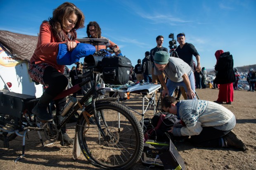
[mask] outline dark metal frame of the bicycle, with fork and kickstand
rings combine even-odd
[[[95,122],[97,124],[97,127],[98,127],[98,129],[100,131],[100,134],[102,135],[103,139],[106,139],[105,132],[102,130],[102,128],[100,126],[99,118],[102,119],[103,124],[105,125],[105,127],[107,127],[107,123],[104,120],[104,115],[103,115],[102,112],[100,112],[100,115],[97,115],[96,109],[95,109],[95,103],[103,102],[103,101],[115,102],[117,99],[116,98],[105,98],[105,99],[99,99],[96,102],[96,99],[97,99],[98,95],[99,94],[103,94],[103,93],[100,92],[101,90],[96,90],[96,76],[95,76],[95,74],[96,73],[94,73],[94,68],[91,67],[90,71],[88,71],[88,72],[83,74],[82,78],[85,78],[85,80],[83,82],[81,82],[81,83],[79,83],[79,84],[69,88],[68,90],[64,90],[57,97],[55,97],[55,99],[64,98],[64,97],[68,96],[69,94],[77,92],[78,90],[80,90],[82,88],[83,85],[85,85],[87,83],[90,83],[90,85],[91,85],[91,88],[90,88],[90,90],[88,90],[87,94],[85,94],[82,97],[82,99],[78,101],[79,104],[76,104],[75,106],[71,107],[69,112],[66,114],[64,120],[62,120],[62,122],[60,122],[58,125],[55,126],[57,128],[56,130],[60,131],[62,129],[62,127],[64,127],[64,125],[66,125],[68,120],[76,113],[76,111],[78,111],[78,109],[81,109],[81,106],[84,105],[85,102],[88,99],[90,99],[90,97],[92,97],[91,105],[92,105],[92,109],[93,109],[93,115],[94,115],[94,118],[96,120]],[[38,101],[38,99],[32,99],[30,101],[27,101],[26,104],[34,103],[34,102],[37,102],[37,101]],[[82,111],[84,111],[84,108],[85,108],[85,106],[83,106]],[[48,106],[48,111],[49,111],[49,113],[52,113],[50,105]],[[23,135],[19,134],[20,130],[9,131],[9,130],[5,130],[3,128],[0,128],[0,130],[3,131],[3,132],[0,132],[0,135],[11,135],[11,134],[15,133],[19,137],[23,137],[22,154],[21,154],[21,156],[19,156],[19,157],[17,157],[15,159],[15,162],[17,162],[20,158],[25,156],[25,137],[26,137],[26,134],[27,134],[27,132],[29,130],[37,131],[38,135],[39,135],[39,138],[40,138],[40,142],[42,143],[43,146],[45,146],[44,143],[43,143],[42,137],[41,137],[41,135],[39,133],[39,131],[44,132],[45,129],[40,128],[39,127],[39,123],[36,123],[36,122],[34,122],[34,123],[36,123],[35,126],[34,126],[33,122],[31,122],[31,117],[29,115],[27,115],[26,113],[27,113],[27,109],[25,109],[24,113],[22,113],[24,118],[25,118],[25,120],[22,121],[22,117],[21,117],[21,121],[19,121],[19,127],[21,127],[21,131],[25,130]],[[28,113],[30,113],[30,111]],[[84,116],[84,115],[81,114],[80,117],[81,116]],[[15,123],[9,123],[9,124],[16,125]],[[47,127],[48,127],[48,130],[49,130],[48,133],[54,134],[54,132],[53,132],[53,125],[54,125],[54,123],[53,122],[47,122],[45,125],[47,125]],[[9,147],[8,140],[4,142],[4,145],[5,145],[5,147]]]

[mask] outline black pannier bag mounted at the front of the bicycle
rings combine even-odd
[[[124,85],[130,76],[131,61],[123,56],[109,56],[102,59],[102,79],[106,84]]]

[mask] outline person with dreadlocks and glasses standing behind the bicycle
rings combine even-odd
[[[89,24],[87,25],[86,33],[88,37],[86,38],[105,38],[101,36],[101,28],[99,24],[96,21],[90,21]],[[118,45],[113,43],[111,40],[109,40],[110,45],[108,47],[111,47],[114,52],[117,52],[119,50]],[[102,50],[106,49],[105,45],[96,45],[95,46],[96,50]]]

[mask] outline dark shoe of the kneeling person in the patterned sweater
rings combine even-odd
[[[236,147],[242,151],[246,150],[246,146],[242,139],[236,135],[234,132],[230,131],[227,135],[223,136],[225,146],[227,147]]]

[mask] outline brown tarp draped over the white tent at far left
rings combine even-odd
[[[30,60],[32,57],[38,37],[0,30],[0,43],[15,57]]]

